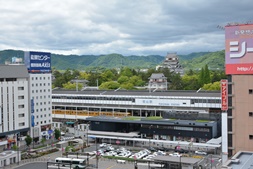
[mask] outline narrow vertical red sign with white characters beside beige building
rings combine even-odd
[[[228,81],[226,79],[221,80],[221,110],[228,110]]]

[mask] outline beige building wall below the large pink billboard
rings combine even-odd
[[[253,151],[253,75],[228,78],[228,153]]]

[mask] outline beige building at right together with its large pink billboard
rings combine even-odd
[[[225,27],[228,155],[253,151],[253,25]],[[225,136],[224,136],[225,137]]]

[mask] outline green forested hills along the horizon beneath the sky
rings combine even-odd
[[[121,54],[108,55],[59,55],[52,54],[52,67],[57,70],[77,69],[87,70],[95,67],[101,68],[155,68],[161,64],[165,56],[123,56]],[[12,57],[24,58],[24,51],[3,50],[0,51],[0,64],[11,61]],[[199,69],[207,64],[211,68],[224,68],[224,51],[199,52],[189,55],[179,55],[180,63],[185,69]]]

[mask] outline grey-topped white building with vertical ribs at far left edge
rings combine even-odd
[[[0,65],[0,152],[29,131],[28,79],[24,65]]]

